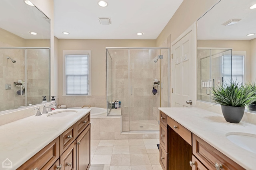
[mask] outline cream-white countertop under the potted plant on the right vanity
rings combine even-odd
[[[197,107],[159,107],[158,109],[246,170],[256,169],[256,154],[238,147],[226,138],[227,133],[233,132],[256,134],[256,125],[243,121],[228,123],[223,115]]]

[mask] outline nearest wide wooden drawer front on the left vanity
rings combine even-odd
[[[46,170],[49,169],[60,156],[60,138],[57,137],[48,144],[44,149],[40,150],[27,162],[18,168],[18,170]]]

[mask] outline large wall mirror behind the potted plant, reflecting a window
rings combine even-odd
[[[198,100],[211,102],[209,89],[224,81],[256,80],[254,4],[256,0],[220,0],[197,21]]]

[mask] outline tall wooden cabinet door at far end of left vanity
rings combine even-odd
[[[88,170],[91,161],[91,124],[76,139],[77,170]]]

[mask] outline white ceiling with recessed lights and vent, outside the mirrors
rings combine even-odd
[[[54,36],[59,39],[156,39],[183,0],[54,0]],[[99,17],[112,24],[101,25]],[[67,31],[70,34],[64,35]],[[144,34],[138,36],[138,32]]]

